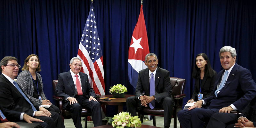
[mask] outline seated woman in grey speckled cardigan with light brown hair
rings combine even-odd
[[[37,55],[31,54],[24,60],[22,72],[18,75],[17,83],[21,86],[28,98],[34,103],[51,105],[45,108],[49,111],[60,113],[60,109],[53,105],[44,95],[40,60]]]

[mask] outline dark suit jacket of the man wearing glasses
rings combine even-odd
[[[0,104],[9,110],[26,112],[29,116],[33,116],[34,113],[31,105],[3,74],[0,75]],[[34,106],[38,110],[40,104],[34,103]]]

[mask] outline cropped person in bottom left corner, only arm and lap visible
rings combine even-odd
[[[38,123],[38,124],[43,124],[42,127],[46,127],[47,123],[44,123],[44,121],[40,120],[40,119],[36,119],[33,117],[28,116],[26,113],[24,112],[18,112],[18,111],[13,111],[13,110],[8,110],[3,108],[0,105],[0,128],[4,128],[4,127],[15,127],[15,128],[19,128],[20,126],[15,122],[20,122],[22,120],[28,122],[26,125],[29,126],[30,123]],[[12,121],[12,122],[10,122]]]

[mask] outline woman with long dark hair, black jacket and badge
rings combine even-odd
[[[212,69],[210,60],[205,53],[196,55],[192,77],[195,79],[195,89],[189,102],[204,99],[212,95],[216,72]]]

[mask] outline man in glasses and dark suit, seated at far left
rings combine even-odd
[[[6,56],[0,62],[0,104],[6,109],[25,112],[29,116],[41,119],[48,127],[65,127],[59,113],[49,112],[40,104],[33,104],[14,81],[20,68],[17,61],[15,57]]]

